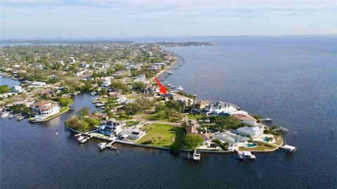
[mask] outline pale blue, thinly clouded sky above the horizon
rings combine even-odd
[[[337,34],[337,0],[0,0],[1,39]]]

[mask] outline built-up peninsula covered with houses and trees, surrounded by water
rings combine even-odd
[[[1,116],[11,112],[31,122],[46,121],[70,110],[72,96],[91,93],[97,110],[82,107],[65,121],[84,136],[175,153],[270,152],[283,145],[282,128],[266,126],[268,119],[237,105],[198,100],[166,81],[161,82],[168,93],[161,93],[154,78],[184,63],[161,45],[213,43],[1,46],[1,74],[21,83],[1,86]]]

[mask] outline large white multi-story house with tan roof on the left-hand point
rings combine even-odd
[[[41,100],[31,105],[31,109],[35,119],[46,119],[60,112],[60,107],[57,103],[49,100]]]

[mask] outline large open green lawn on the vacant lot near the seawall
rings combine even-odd
[[[147,130],[147,133],[137,141],[138,144],[169,147],[173,143],[181,144],[185,135],[183,129],[171,124],[150,124],[142,129]]]

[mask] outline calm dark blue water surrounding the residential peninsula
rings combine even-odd
[[[257,153],[256,162],[202,154],[194,163],[165,150],[79,145],[63,124],[74,112],[36,124],[1,119],[1,188],[337,188],[336,38],[200,40],[218,46],[168,48],[185,64],[166,80],[272,117],[290,130],[284,141],[297,152]],[[77,109],[95,108],[89,95],[74,100]]]

